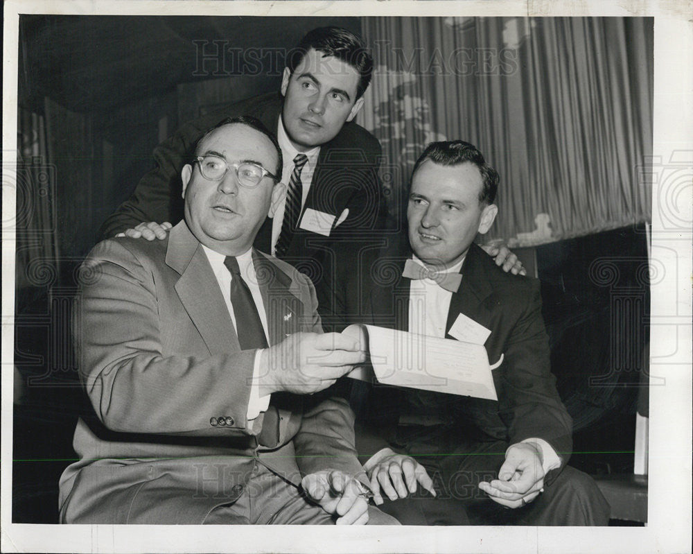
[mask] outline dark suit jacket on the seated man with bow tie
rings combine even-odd
[[[408,244],[399,244],[385,252],[363,250],[344,261],[352,268],[344,272],[347,279],[333,293],[318,291],[324,326],[340,330],[365,322],[407,331],[411,281],[401,274],[410,256]],[[352,398],[360,422],[359,455],[394,446],[396,427],[406,419],[426,426],[454,423],[460,436],[472,441],[513,444],[542,438],[565,462],[572,447],[572,422],[550,372],[538,281],[503,272],[476,245],[466,255],[462,275],[459,291],[450,300],[446,333],[460,313],[491,330],[484,344],[489,362],[505,356],[493,370],[498,401],[375,386],[368,397],[361,392]]]

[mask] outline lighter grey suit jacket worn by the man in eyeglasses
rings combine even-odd
[[[253,252],[270,345],[322,332],[310,280]],[[242,351],[202,246],[184,222],[165,241],[112,239],[82,266],[74,338],[93,407],[80,461],[60,479],[61,521],[201,523],[234,501],[259,460],[300,482],[327,467],[362,471],[346,401],[275,393],[279,445],[247,422],[254,350]],[[236,313],[243,324],[243,313]]]

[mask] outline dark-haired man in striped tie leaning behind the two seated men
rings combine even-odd
[[[363,106],[373,58],[350,31],[321,27],[310,31],[286,62],[281,95],[250,98],[186,123],[157,146],[156,168],[105,221],[101,239],[119,233],[163,239],[168,222],[182,217],[179,174],[191,145],[203,130],[239,115],[254,116],[277,133],[287,184],[286,198],[263,223],[255,248],[296,264],[319,286],[323,260],[333,263],[352,245],[380,238],[386,213],[378,179],[382,150],[378,139],[353,121]],[[507,248],[488,252],[498,254],[496,263],[506,271],[523,272]]]

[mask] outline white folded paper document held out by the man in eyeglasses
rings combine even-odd
[[[342,333],[358,337],[370,353],[371,365],[357,367],[352,379],[498,400],[491,370],[502,356],[491,367],[483,345],[375,325],[350,325]]]

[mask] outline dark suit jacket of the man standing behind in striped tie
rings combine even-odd
[[[277,132],[283,98],[272,93],[256,96],[186,123],[173,137],[155,148],[156,167],[137,184],[129,200],[109,216],[99,231],[108,239],[143,221],[170,221],[183,217],[180,171],[193,157],[193,147],[211,126],[227,117],[254,116],[272,133]],[[283,259],[290,263],[312,263],[316,255],[339,248],[345,239],[362,241],[383,225],[384,200],[378,180],[381,148],[378,140],[356,123],[345,123],[337,136],[322,145],[305,208],[337,216],[349,209],[349,216],[330,237],[297,230]],[[290,175],[283,175],[288,183]],[[270,252],[272,219],[258,232],[255,247]],[[335,242],[336,241],[336,242]],[[302,267],[301,269],[306,269]],[[319,268],[307,270],[317,275]]]

